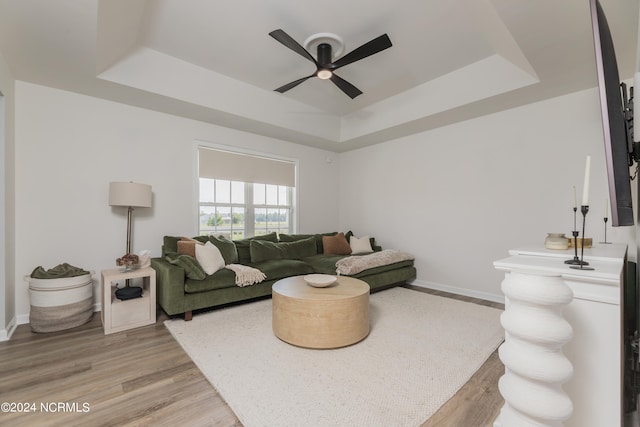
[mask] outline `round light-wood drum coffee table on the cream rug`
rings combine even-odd
[[[369,334],[369,285],[338,276],[326,288],[314,288],[304,276],[273,284],[273,333],[289,344],[338,348]]]

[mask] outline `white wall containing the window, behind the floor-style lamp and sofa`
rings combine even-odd
[[[338,224],[339,159],[328,151],[20,81],[15,126],[19,323],[29,311],[23,278],[37,266],[93,270],[98,295],[100,270],[125,251],[126,213],[108,206],[110,181],[153,187],[153,208],[134,212],[134,252],[159,256],[163,235],[196,233],[194,140],[298,159],[298,231]]]

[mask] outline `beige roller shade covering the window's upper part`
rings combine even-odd
[[[198,176],[250,183],[296,186],[295,163],[212,148],[198,148]]]

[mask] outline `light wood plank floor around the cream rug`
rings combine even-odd
[[[0,412],[0,425],[241,426],[171,337],[165,319],[159,312],[155,325],[107,336],[99,313],[83,326],[49,334],[19,326],[11,340],[0,343],[0,403],[13,402],[12,409],[23,411],[27,405],[31,412]],[[503,404],[497,389],[503,373],[496,351],[422,427],[492,425]]]

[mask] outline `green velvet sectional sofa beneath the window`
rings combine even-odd
[[[151,267],[156,270],[157,301],[168,315],[184,315],[185,320],[191,320],[196,310],[271,296],[271,286],[285,277],[311,273],[335,275],[338,260],[360,256],[326,254],[323,236],[338,234],[342,233],[280,236],[271,233],[233,242],[220,237],[193,238],[202,243],[211,241],[220,250],[225,264],[246,265],[264,273],[266,277],[262,282],[250,286],[237,285],[236,273],[228,268],[203,274],[193,254],[179,252],[178,242],[185,243],[185,238],[165,236],[162,257],[151,259]],[[345,237],[351,236],[349,232]],[[328,237],[324,239],[329,242]],[[374,253],[380,252],[382,248],[375,246],[374,239],[370,241]],[[373,292],[415,279],[416,269],[413,259],[405,259],[368,268],[351,277],[368,283]]]

